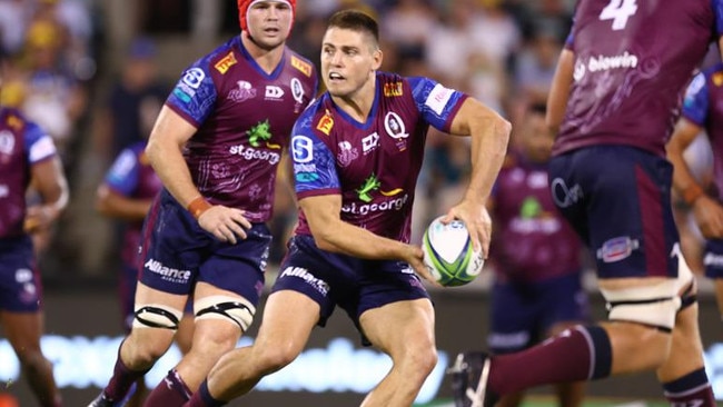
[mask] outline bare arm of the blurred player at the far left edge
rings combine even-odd
[[[34,189],[40,193],[41,205],[28,207],[24,219],[26,231],[41,230],[60,217],[68,206],[69,192],[62,163],[58,156],[31,166]]]

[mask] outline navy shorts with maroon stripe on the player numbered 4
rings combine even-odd
[[[553,158],[553,199],[590,246],[601,278],[677,275],[672,171],[664,158],[622,146]]]

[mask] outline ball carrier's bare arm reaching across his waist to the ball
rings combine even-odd
[[[299,206],[319,249],[363,259],[402,260],[428,281],[434,281],[424,266],[422,248],[385,238],[341,220],[341,196],[305,197]]]

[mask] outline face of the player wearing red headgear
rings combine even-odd
[[[291,8],[283,1],[259,1],[248,10],[248,30],[263,48],[276,48],[291,30]]]

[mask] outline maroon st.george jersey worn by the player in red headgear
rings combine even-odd
[[[267,75],[235,37],[191,64],[166,105],[198,128],[185,158],[214,205],[271,216],[276,168],[294,121],[317,91],[314,64],[286,48]]]

